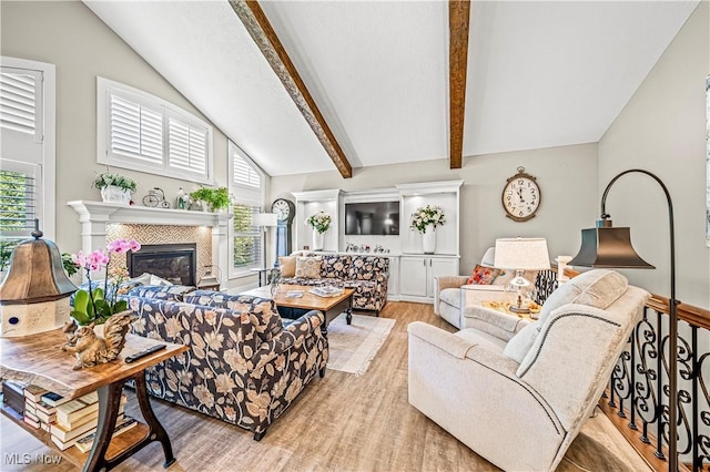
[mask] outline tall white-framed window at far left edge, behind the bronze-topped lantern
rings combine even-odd
[[[0,269],[38,220],[54,238],[54,65],[0,58]]]

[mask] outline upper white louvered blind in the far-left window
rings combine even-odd
[[[41,120],[38,101],[41,100],[41,72],[0,71],[0,126],[41,138]]]

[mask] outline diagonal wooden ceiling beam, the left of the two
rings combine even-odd
[[[345,178],[352,177],[353,167],[351,163],[335,140],[335,135],[325,122],[323,114],[315,104],[313,96],[311,96],[308,89],[306,89],[296,66],[291,61],[291,58],[288,58],[286,50],[278,40],[276,32],[260,7],[258,1],[230,0],[230,4],[281,80],[291,99],[293,99],[301,114],[303,114],[303,117],[325,148],[325,152],[331,156],[331,160],[333,160],[341,175]]]

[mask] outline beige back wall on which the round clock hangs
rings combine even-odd
[[[526,223],[506,218],[500,203],[506,178],[515,175],[518,166],[537,177],[542,195],[537,216]],[[436,160],[357,168],[348,179],[335,171],[272,177],[271,199],[293,199],[291,192],[383,188],[447,179],[465,181],[460,208],[462,274],[470,273],[498,237],[544,236],[551,258],[561,254],[574,256],[579,249],[580,229],[594,226],[599,213],[596,144],[466,157],[460,170],[450,170],[447,160]],[[406,220],[409,215],[402,217]],[[302,219],[297,215],[294,225]]]

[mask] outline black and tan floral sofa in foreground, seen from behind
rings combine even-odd
[[[306,384],[325,374],[320,311],[282,321],[272,300],[140,286],[128,295],[133,334],[190,346],[146,370],[154,397],[265,434]]]

